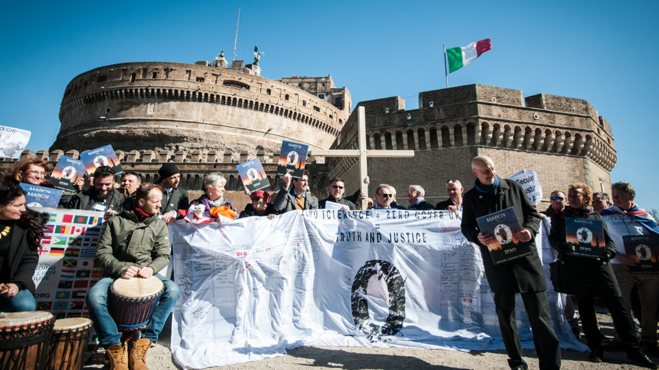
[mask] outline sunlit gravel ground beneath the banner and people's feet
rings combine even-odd
[[[610,315],[598,313],[598,321],[602,333],[611,337],[613,323]],[[147,354],[146,363],[152,370],[180,369],[173,363],[169,350],[169,335],[171,328],[168,322],[161,334],[158,344]],[[585,343],[585,339],[581,339]],[[218,349],[221,350],[221,349]],[[103,364],[103,350],[88,352],[88,359],[83,369],[107,368]],[[538,358],[535,350],[524,350],[525,360],[529,369],[538,369]],[[588,361],[588,352],[563,350],[562,369],[643,369],[627,362],[624,352],[605,352],[603,363]],[[659,358],[652,358],[659,361]],[[287,356],[271,359],[262,359],[247,363],[210,367],[208,369],[223,370],[262,370],[285,369],[297,370],[314,367],[316,369],[433,369],[433,370],[462,370],[462,369],[509,369],[505,351],[446,351],[446,350],[418,350],[411,348],[367,348],[367,347],[320,347],[304,346],[289,350]]]

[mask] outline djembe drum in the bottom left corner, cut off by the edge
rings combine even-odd
[[[47,311],[0,314],[0,369],[45,369],[53,323]]]

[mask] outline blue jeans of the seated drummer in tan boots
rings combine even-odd
[[[163,330],[165,321],[167,321],[167,317],[169,317],[169,313],[171,313],[181,292],[179,286],[172,280],[158,274],[154,274],[154,277],[162,280],[165,290],[160,296],[153,317],[151,317],[146,329],[142,332],[142,338],[148,338],[152,343],[158,342],[158,334]],[[101,346],[106,348],[112,344],[121,344],[121,333],[117,329],[117,324],[112,318],[107,304],[107,294],[114,281],[115,279],[109,277],[101,278],[89,290],[86,299],[87,309],[92,323],[94,323],[94,330],[98,334],[98,341]]]

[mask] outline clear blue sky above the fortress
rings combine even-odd
[[[449,76],[587,99],[612,124],[613,181],[659,209],[659,172],[647,170],[658,136],[654,115],[659,35],[656,1],[7,1],[0,14],[0,124],[32,131],[47,149],[74,76],[135,61],[230,58],[241,5],[237,59],[254,44],[262,76],[331,74],[353,101],[393,95],[415,109],[417,93],[443,88],[442,44],[492,39],[488,51]],[[650,157],[648,157],[650,156]]]

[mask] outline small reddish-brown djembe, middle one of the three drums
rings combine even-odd
[[[92,321],[84,317],[55,320],[48,350],[47,370],[80,370],[82,355],[92,334]]]

